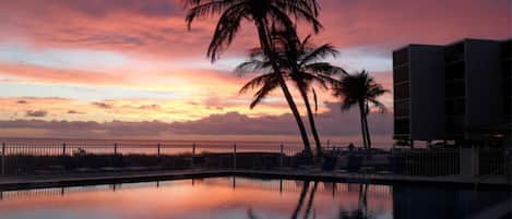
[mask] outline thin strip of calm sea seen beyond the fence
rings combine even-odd
[[[278,153],[281,145],[288,153],[297,153],[303,149],[298,142],[290,141],[156,141],[156,139],[64,139],[64,138],[5,138],[0,139],[10,150],[8,154],[24,153],[37,154],[38,148],[47,148],[44,154],[60,154],[66,145],[68,153],[85,149],[86,153],[103,154],[114,153],[117,147],[118,154],[156,154],[158,146],[162,154],[192,153],[233,153],[237,151],[273,151]],[[331,145],[335,146],[335,145]],[[338,144],[337,146],[342,146]],[[23,148],[23,149],[16,149]],[[49,148],[49,149],[48,149]]]

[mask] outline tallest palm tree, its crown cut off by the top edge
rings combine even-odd
[[[294,22],[289,17],[291,15],[310,24],[314,33],[321,28],[321,24],[317,21],[319,5],[315,0],[184,0],[184,4],[189,8],[186,17],[189,28],[195,19],[221,15],[207,50],[212,62],[231,44],[243,20],[252,22],[257,27],[260,47],[272,61],[274,73],[279,73],[279,68],[269,35],[271,25],[294,29]],[[311,157],[311,147],[300,113],[284,78],[279,76],[281,74],[276,75],[275,80],[299,127],[305,150]]]

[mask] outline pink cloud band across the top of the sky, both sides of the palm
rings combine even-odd
[[[510,36],[508,0],[323,0],[321,41],[390,49],[409,42],[446,44],[464,37]],[[2,34],[36,47],[116,50],[166,58],[204,58],[215,17],[192,32],[179,1],[10,1],[0,3]],[[245,25],[231,52],[257,45]]]

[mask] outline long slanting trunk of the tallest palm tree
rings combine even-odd
[[[275,59],[275,56],[274,56],[274,49],[273,49],[273,47],[271,47],[271,42],[270,42],[271,40],[270,40],[269,34],[267,34],[269,32],[266,29],[266,22],[264,22],[262,20],[255,20],[255,25],[258,27],[258,35],[260,37],[260,45],[261,45],[263,51],[265,52],[266,57],[270,58],[270,60],[272,62],[272,69],[274,70],[274,72],[279,73],[281,70],[276,64],[276,59]],[[294,97],[291,96],[291,94],[288,89],[288,86],[286,85],[286,82],[285,82],[285,80],[283,78],[282,75],[279,75],[279,86],[283,90],[283,94],[286,98],[286,101],[288,102],[288,107],[290,108],[291,113],[294,114],[294,118],[297,122],[297,125],[299,126],[300,136],[302,137],[302,143],[303,143],[306,156],[308,157],[309,161],[311,161],[312,153],[311,153],[311,146],[310,146],[310,143],[309,143],[308,134],[306,132],[306,126],[303,125],[303,122],[302,122],[302,119],[300,117],[299,110],[297,109],[297,105],[294,101]]]

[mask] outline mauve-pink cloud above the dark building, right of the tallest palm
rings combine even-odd
[[[449,44],[467,37],[511,36],[509,0],[320,1],[322,39],[341,47],[394,49],[406,44]],[[391,51],[389,51],[391,56]]]

